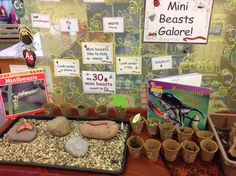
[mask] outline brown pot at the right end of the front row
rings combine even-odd
[[[212,139],[203,139],[200,143],[201,157],[204,161],[211,161],[218,150],[218,145]]]

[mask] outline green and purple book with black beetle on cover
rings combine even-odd
[[[186,76],[181,75],[178,81],[173,81],[178,76],[149,80],[148,117],[176,126],[188,126],[195,131],[204,130],[211,90],[196,86],[201,82],[201,79],[194,82],[196,79],[193,78],[199,78],[198,74]]]

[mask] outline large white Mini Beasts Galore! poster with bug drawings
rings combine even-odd
[[[146,0],[144,42],[207,43],[213,0]]]

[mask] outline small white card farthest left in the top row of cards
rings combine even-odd
[[[50,15],[48,14],[39,14],[39,13],[32,13],[31,14],[31,22],[32,27],[35,28],[50,28]]]

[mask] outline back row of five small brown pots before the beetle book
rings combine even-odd
[[[168,122],[160,123],[157,119],[154,118],[145,119],[144,117],[142,117],[142,120],[137,123],[133,123],[132,118],[130,119],[130,124],[135,134],[140,134],[142,132],[144,123],[146,124],[148,133],[152,136],[155,136],[159,132],[162,141],[166,139],[172,139],[175,130],[177,131],[179,142],[183,142],[185,140],[192,140],[192,136],[194,134],[192,128],[189,127],[176,128],[172,123]],[[198,138],[198,143],[200,143],[201,140],[205,138],[213,139],[214,133],[207,130],[198,131],[196,132],[196,136]]]

